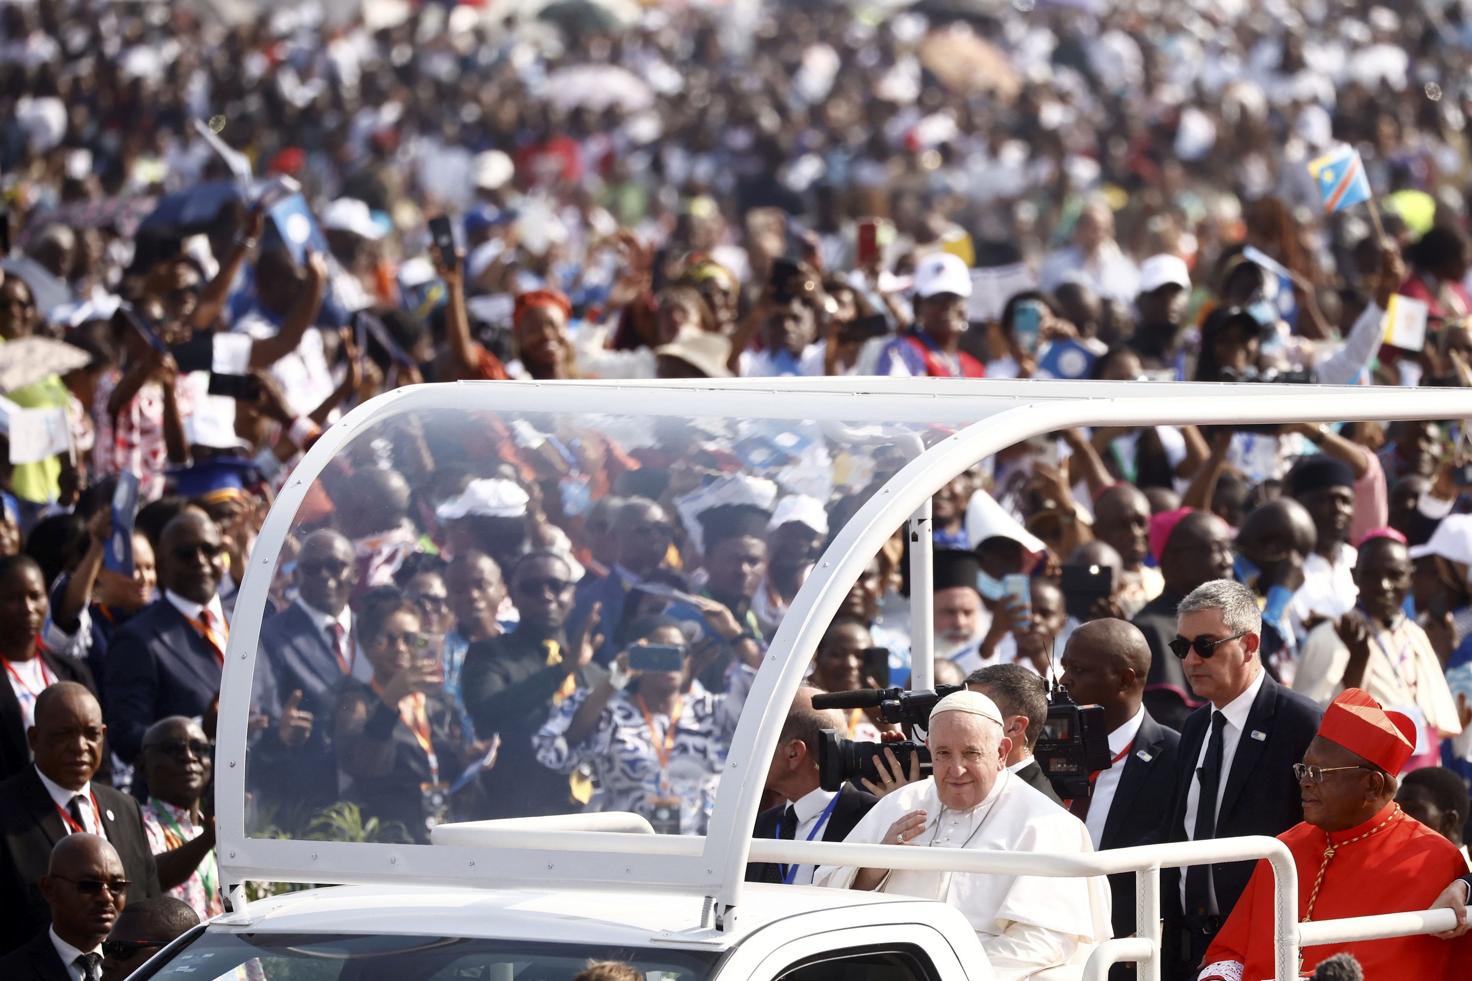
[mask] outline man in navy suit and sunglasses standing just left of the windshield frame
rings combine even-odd
[[[163,597],[113,634],[107,650],[109,734],[127,763],[158,719],[210,713],[225,663],[219,527],[202,510],[181,512],[159,535],[158,560]]]

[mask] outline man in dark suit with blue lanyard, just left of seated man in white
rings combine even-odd
[[[845,729],[841,712],[813,707],[817,688],[801,688],[788,712],[777,740],[777,752],[767,768],[767,790],[786,797],[786,803],[757,815],[754,838],[842,841],[879,797],[843,784],[838,794],[818,787],[818,746],[823,729]],[[748,882],[792,882],[811,885],[814,866],[796,868],[773,862],[749,862]]]

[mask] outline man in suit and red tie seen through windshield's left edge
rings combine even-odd
[[[261,628],[253,709],[272,719],[275,737],[253,747],[271,766],[252,768],[250,775],[268,797],[316,794],[315,803],[327,805],[337,799],[333,781],[321,778],[336,766],[328,732],[337,690],[344,678],[372,679],[368,657],[358,656],[347,607],[358,584],[352,543],[336,531],[312,532],[294,577],[296,602]]]

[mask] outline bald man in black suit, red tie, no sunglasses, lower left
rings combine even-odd
[[[97,699],[75,682],[54,684],[35,700],[35,765],[0,784],[0,952],[50,922],[41,878],[52,849],[69,834],[100,834],[112,844],[132,882],[130,899],[159,894],[138,802],[93,782],[105,734]]]

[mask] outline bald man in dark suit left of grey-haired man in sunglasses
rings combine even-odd
[[[1161,816],[1176,800],[1176,747],[1181,734],[1160,725],[1145,710],[1150,643],[1139,628],[1120,619],[1083,624],[1069,637],[1058,679],[1079,704],[1104,707],[1110,768],[1094,777],[1092,793],[1070,802],[1100,852],[1151,844],[1158,840]],[[1116,937],[1135,932],[1135,875],[1108,877]],[[1114,965],[1110,978],[1135,972]]]

